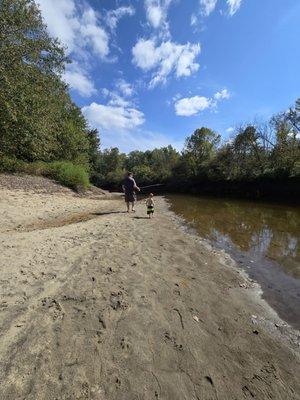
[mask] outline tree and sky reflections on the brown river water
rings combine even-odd
[[[300,210],[237,200],[170,196],[172,209],[208,239],[278,261],[300,278]]]

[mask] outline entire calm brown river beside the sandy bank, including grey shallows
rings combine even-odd
[[[170,208],[224,249],[279,316],[300,329],[300,207],[169,195]]]

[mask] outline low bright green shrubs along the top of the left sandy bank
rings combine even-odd
[[[0,157],[0,172],[26,173],[41,175],[61,183],[74,190],[85,190],[89,187],[89,175],[86,169],[70,161],[54,161],[46,163],[25,161],[6,156]]]

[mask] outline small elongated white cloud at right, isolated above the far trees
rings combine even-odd
[[[218,101],[228,99],[229,97],[230,94],[227,89],[217,92],[213,98],[204,96],[185,97],[175,101],[175,112],[182,117],[190,117],[206,109],[216,107]]]

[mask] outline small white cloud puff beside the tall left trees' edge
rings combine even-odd
[[[63,75],[63,80],[82,97],[90,97],[97,92],[87,72],[77,63],[70,65]]]

